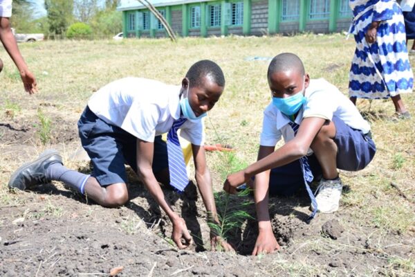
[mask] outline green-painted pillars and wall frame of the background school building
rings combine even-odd
[[[299,19],[297,21],[284,22],[282,21],[282,0],[217,0],[217,1],[201,1],[201,3],[184,3],[175,6],[159,6],[158,10],[165,10],[165,18],[169,22],[170,26],[176,33],[179,33],[183,37],[197,34],[201,37],[207,37],[209,35],[229,35],[235,33],[238,35],[252,35],[252,25],[255,25],[258,20],[258,15],[253,15],[252,10],[259,5],[264,3],[268,5],[268,12],[261,15],[266,17],[268,22],[266,24],[266,30],[262,33],[286,33],[283,30],[284,24],[291,24],[294,26],[293,32],[304,32],[313,31],[313,24],[317,26],[320,24],[320,28],[316,28],[315,31],[321,28],[325,29],[326,32],[337,32],[339,28],[347,28],[347,25],[351,21],[350,17],[340,17],[340,1],[341,0],[330,0],[330,15],[327,19],[309,19],[309,6],[311,0],[300,0],[299,1]],[[225,6],[229,3],[243,2],[243,24],[241,26],[229,26],[226,25]],[[201,22],[199,28],[190,28],[190,8],[192,6],[200,5],[201,7]],[[221,6],[221,26],[210,27],[208,24],[209,6],[220,5]],[[138,14],[138,12],[148,11],[147,9],[142,10],[127,10],[122,12],[122,31],[124,37],[160,37],[165,36],[167,33],[165,30],[158,30],[157,26],[154,26],[154,21],[150,20],[149,30],[139,30],[138,17],[136,17],[136,30],[127,30],[128,17],[131,12]],[[181,19],[174,18],[175,15],[181,14]],[[181,26],[178,24],[181,21]],[[286,25],[285,25],[286,26]],[[323,27],[321,27],[323,26]],[[325,33],[326,33],[325,32]],[[255,33],[255,32],[254,32]],[[319,31],[320,33],[320,31]],[[258,34],[255,33],[256,35]]]

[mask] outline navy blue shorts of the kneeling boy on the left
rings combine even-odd
[[[88,106],[77,123],[82,147],[93,163],[92,177],[101,186],[127,183],[125,164],[137,172],[137,138],[120,127],[98,118]],[[167,144],[156,136],[154,139],[153,172],[168,168]]]

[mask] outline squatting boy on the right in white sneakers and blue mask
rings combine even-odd
[[[279,249],[268,213],[269,193],[291,195],[305,186],[313,211],[308,220],[317,211],[333,213],[342,193],[337,168],[361,170],[376,152],[369,123],[358,109],[326,80],[311,80],[297,55],[274,57],[268,84],[273,102],[264,111],[258,161],[228,175],[223,185],[228,193],[245,182],[254,188],[259,234],[252,255]],[[286,143],[275,150],[282,136]],[[309,187],[313,179],[320,179],[316,197]]]

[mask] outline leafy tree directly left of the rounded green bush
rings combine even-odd
[[[64,34],[73,21],[73,0],[45,0],[45,8],[50,33]]]

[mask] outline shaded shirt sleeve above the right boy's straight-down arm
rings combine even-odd
[[[277,129],[277,116],[273,113],[270,106],[264,111],[264,120],[262,121],[262,132],[259,144],[262,146],[275,146],[281,139],[282,133]]]

